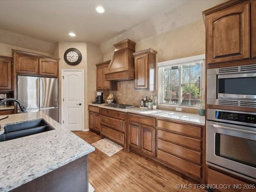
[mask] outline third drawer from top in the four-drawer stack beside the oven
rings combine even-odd
[[[201,164],[201,154],[200,152],[178,146],[173,143],[166,142],[164,140],[157,140],[157,148],[165,152],[171,153],[180,158],[186,159],[188,161],[194,162],[196,164]]]

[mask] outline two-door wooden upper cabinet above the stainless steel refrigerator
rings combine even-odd
[[[58,58],[13,50],[16,74],[58,77]]]

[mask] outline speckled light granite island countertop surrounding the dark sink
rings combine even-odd
[[[0,142],[0,192],[17,188],[95,150],[42,112],[9,115],[0,121],[0,132],[4,132],[5,124],[40,118],[54,130]]]

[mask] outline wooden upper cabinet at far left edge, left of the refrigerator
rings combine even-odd
[[[12,58],[0,56],[0,89],[12,89]]]

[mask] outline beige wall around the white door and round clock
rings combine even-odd
[[[77,48],[82,54],[82,61],[76,66],[70,66],[64,61],[64,52],[68,48]],[[58,55],[57,55],[58,54]],[[84,129],[88,130],[88,103],[95,100],[96,95],[96,66],[98,62],[103,61],[103,54],[93,44],[86,42],[59,42],[56,44],[54,56],[60,58],[59,76],[61,77],[62,69],[83,69],[84,70]],[[60,120],[61,120],[61,78],[59,81],[59,101],[60,101]]]

